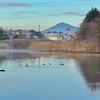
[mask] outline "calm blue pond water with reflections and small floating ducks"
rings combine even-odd
[[[0,100],[100,100],[100,56],[0,51]]]

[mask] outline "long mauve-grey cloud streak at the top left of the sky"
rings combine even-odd
[[[23,2],[4,2],[0,3],[0,6],[5,6],[5,7],[30,7],[33,4],[31,3],[23,3]]]

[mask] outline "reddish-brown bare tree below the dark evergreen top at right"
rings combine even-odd
[[[98,25],[95,22],[84,22],[76,34],[79,40],[95,42],[98,36]]]

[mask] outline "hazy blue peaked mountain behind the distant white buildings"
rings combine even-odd
[[[66,34],[66,32],[67,32],[66,28],[70,28],[70,34],[73,34],[74,32],[76,32],[79,29],[78,27],[75,27],[75,26],[69,25],[67,23],[61,22],[61,23],[56,24],[53,27],[50,27],[50,28],[44,30],[43,33],[47,33],[49,31],[50,32],[57,31],[57,32],[62,32],[64,34]]]

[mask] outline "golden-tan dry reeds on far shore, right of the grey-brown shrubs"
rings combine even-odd
[[[56,50],[67,52],[100,52],[98,43],[74,42],[74,41],[42,41],[32,42],[27,49],[31,50]]]

